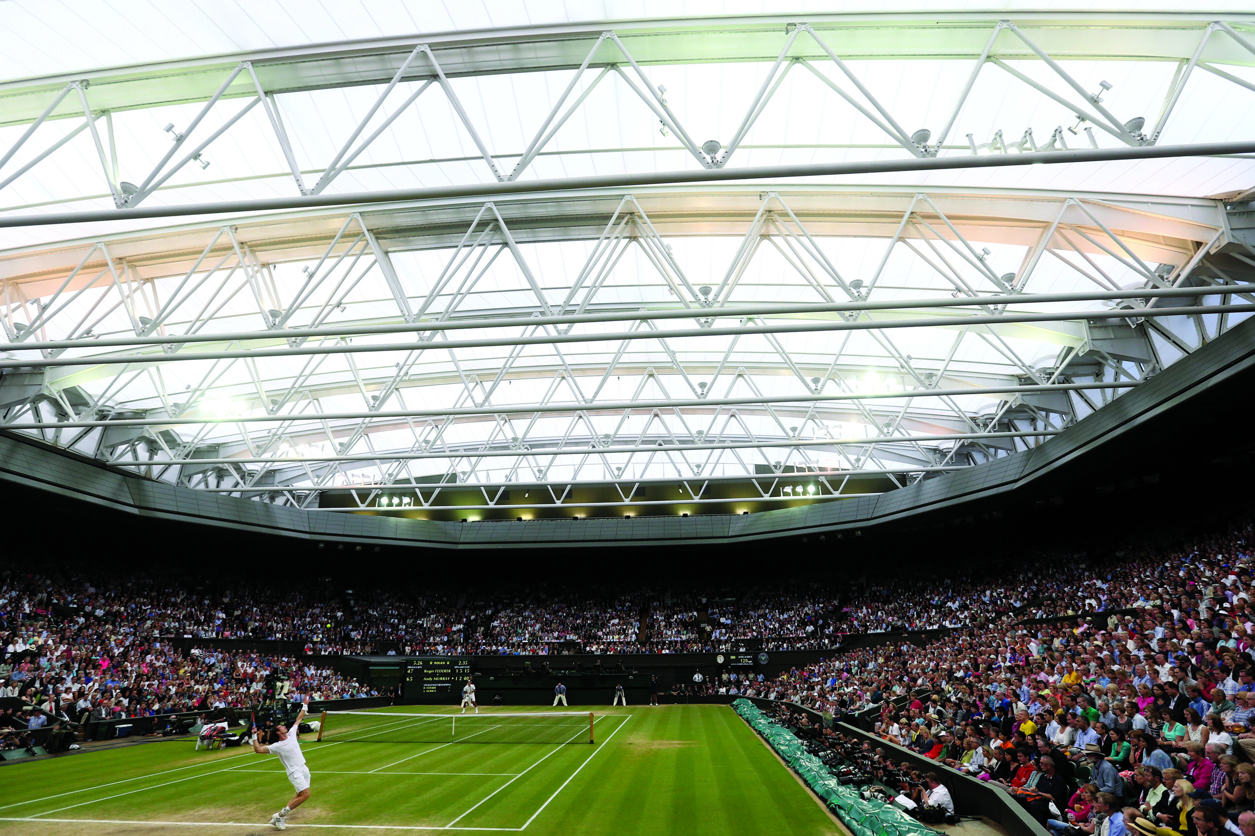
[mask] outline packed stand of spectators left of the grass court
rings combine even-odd
[[[163,597],[164,607],[157,603]],[[312,658],[201,648],[200,634],[178,635],[182,624],[173,627],[193,617],[235,624],[228,619],[294,615],[257,605],[230,595],[158,595],[134,584],[99,590],[33,573],[0,575],[0,750],[26,748],[29,732],[45,726],[243,708],[267,687],[314,699],[374,696]],[[217,635],[231,633],[226,627]],[[282,683],[267,684],[272,671],[282,671]],[[153,729],[159,733],[158,724]]]

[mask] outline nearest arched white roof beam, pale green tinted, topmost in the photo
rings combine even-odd
[[[1242,30],[1250,23],[1224,13],[882,13],[756,15],[733,18],[620,20],[565,26],[531,26],[484,31],[434,33],[310,46],[236,53],[139,66],[114,66],[56,76],[35,76],[0,84],[0,125],[24,124],[40,117],[65,84],[88,80],[93,110],[127,110],[205,102],[241,61],[252,64],[267,93],[294,93],[364,84],[385,84],[405,63],[415,44],[428,44],[447,76],[575,69],[612,30],[639,64],[771,61],[787,39],[786,26],[809,24],[845,59],[978,59],[1000,20],[1010,20],[1055,59],[1190,60],[1200,36],[1216,20]],[[1245,34],[1245,33],[1242,33]],[[798,39],[796,54],[823,60],[826,53]],[[1003,34],[991,56],[1037,59],[1020,39]],[[591,66],[621,61],[602,43]],[[1255,55],[1227,38],[1212,38],[1202,60],[1255,64]],[[414,78],[430,75],[418,63]],[[223,98],[256,95],[243,74]],[[77,97],[67,97],[49,118],[82,117]]]

